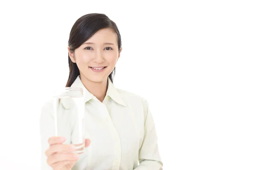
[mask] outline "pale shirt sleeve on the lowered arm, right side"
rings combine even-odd
[[[148,109],[148,102],[143,101],[144,119],[144,139],[139,150],[140,164],[134,170],[163,170],[158,146],[157,133],[151,112]]]

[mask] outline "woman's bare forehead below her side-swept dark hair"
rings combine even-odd
[[[105,43],[106,41],[115,43],[117,42],[116,33],[111,28],[103,28],[93,34],[86,42]]]

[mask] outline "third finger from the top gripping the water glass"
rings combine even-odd
[[[76,153],[55,153],[50,155],[47,159],[47,164],[52,166],[52,164],[59,161],[77,161],[78,155]]]

